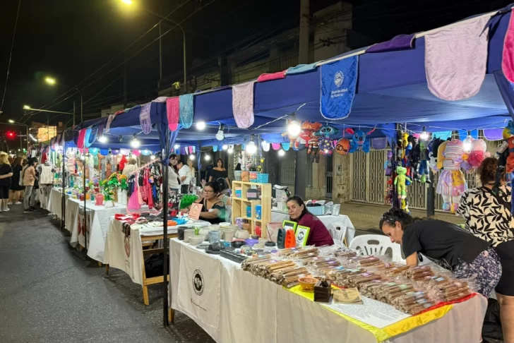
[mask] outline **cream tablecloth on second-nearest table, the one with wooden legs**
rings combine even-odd
[[[136,284],[143,284],[143,246],[141,246],[141,236],[156,236],[163,234],[162,227],[155,230],[144,232],[131,227],[130,236],[123,232],[123,222],[109,217],[107,236],[105,237],[104,247],[102,248],[102,263],[108,264],[123,270],[131,277]],[[208,222],[198,221],[203,226],[210,225]],[[168,227],[168,234],[177,234],[178,227]]]

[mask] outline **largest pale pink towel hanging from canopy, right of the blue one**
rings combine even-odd
[[[486,75],[489,16],[425,35],[425,72],[436,97],[456,101],[476,95]]]

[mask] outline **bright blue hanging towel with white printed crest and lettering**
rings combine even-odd
[[[345,119],[352,111],[359,56],[321,66],[320,111],[326,119]]]

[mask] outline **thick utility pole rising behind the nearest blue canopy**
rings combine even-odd
[[[300,35],[299,35],[299,52],[298,52],[298,64],[309,64],[309,25],[310,25],[310,0],[300,0]],[[301,198],[305,198],[305,187],[306,187],[306,164],[307,154],[305,151],[296,152],[296,165],[294,178],[294,193],[300,195]],[[318,175],[313,175],[318,177]]]

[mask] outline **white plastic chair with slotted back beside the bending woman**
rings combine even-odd
[[[349,248],[359,251],[362,255],[384,255],[388,249],[391,249],[393,262],[400,262],[402,258],[402,249],[400,244],[392,243],[388,236],[379,234],[363,234],[356,236],[349,243]]]

